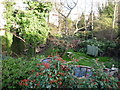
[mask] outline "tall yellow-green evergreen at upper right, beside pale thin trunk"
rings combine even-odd
[[[116,38],[117,25],[114,26],[113,30],[113,21],[114,21],[114,8],[115,5],[113,2],[108,2],[107,6],[99,8],[100,17],[95,20],[95,31],[97,31],[96,36],[99,39],[106,38],[108,40],[113,40]],[[107,31],[107,33],[105,33]],[[102,37],[101,37],[102,35]]]

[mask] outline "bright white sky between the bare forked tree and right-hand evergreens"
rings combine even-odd
[[[86,16],[91,12],[91,6],[92,6],[92,2],[93,2],[93,12],[95,13],[95,15],[98,14],[98,3],[101,6],[102,3],[105,4],[107,0],[78,0],[78,4],[77,6],[74,8],[74,10],[71,13],[71,19],[77,19],[82,12],[85,12]]]

